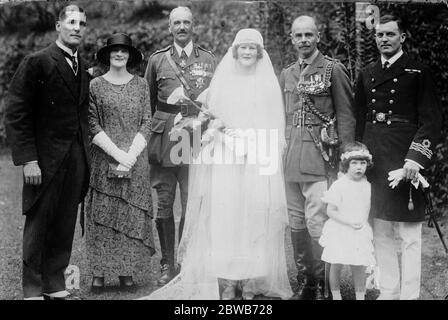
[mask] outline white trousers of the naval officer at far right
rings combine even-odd
[[[379,299],[412,300],[420,295],[422,222],[373,220],[379,268]],[[398,253],[401,252],[401,283]]]

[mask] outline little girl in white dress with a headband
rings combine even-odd
[[[322,260],[330,266],[330,289],[333,300],[342,300],[340,277],[343,265],[350,265],[356,300],[364,300],[367,266],[375,265],[373,233],[369,225],[370,183],[365,172],[372,165],[372,155],[360,142],[348,143],[341,155],[343,173],[322,198],[329,219],[319,243]]]

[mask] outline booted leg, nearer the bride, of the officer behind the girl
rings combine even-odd
[[[305,198],[298,182],[286,182],[285,190],[294,262],[297,268],[298,290],[294,297],[300,300],[311,299],[309,287],[314,281],[310,237],[305,222]]]

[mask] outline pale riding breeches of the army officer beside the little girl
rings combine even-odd
[[[286,200],[289,225],[294,230],[308,229],[312,239],[318,241],[328,219],[322,202],[327,181],[286,182]]]

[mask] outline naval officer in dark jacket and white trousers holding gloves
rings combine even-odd
[[[405,38],[400,19],[381,17],[376,26],[381,58],[360,72],[355,88],[357,138],[367,145],[374,163],[368,178],[379,299],[419,297],[425,202],[421,187],[416,190],[410,182],[429,166],[441,130],[431,71],[403,52]],[[397,169],[402,169],[398,179],[404,181],[392,189],[388,173]]]

